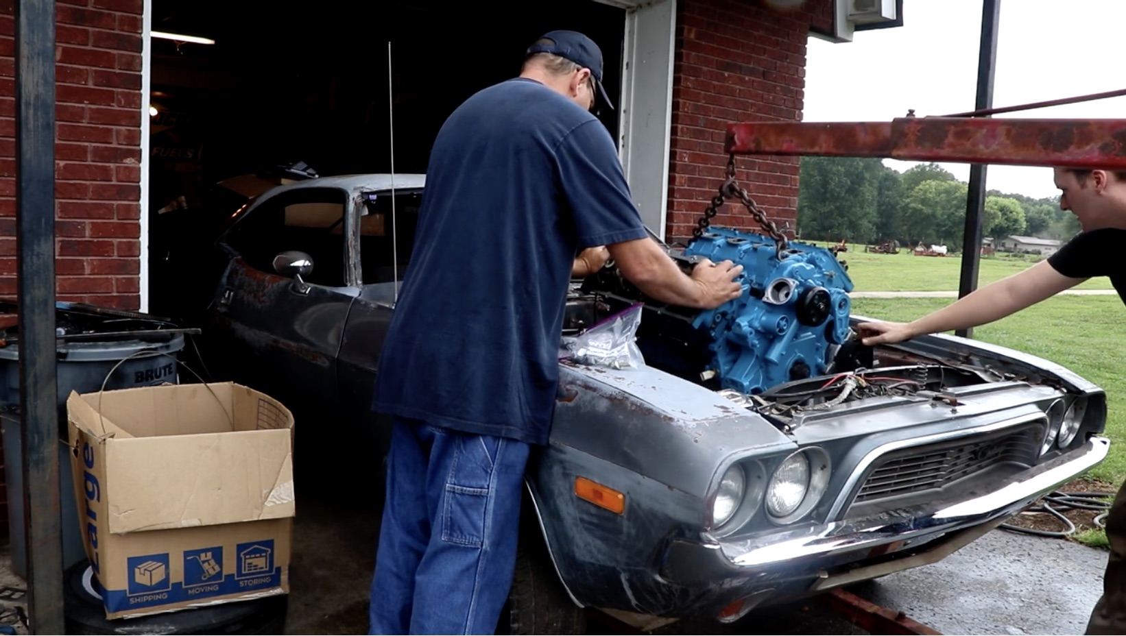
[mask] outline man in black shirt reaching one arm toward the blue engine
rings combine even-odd
[[[978,326],[1094,276],[1108,277],[1126,303],[1126,261],[1118,258],[1126,241],[1126,170],[1056,168],[1055,185],[1061,190],[1060,207],[1071,210],[1082,227],[1060,251],[915,321],[860,323],[861,341],[874,346]],[[1126,634],[1126,483],[1107,514],[1107,539],[1110,557],[1102,597],[1091,611],[1087,634]]]

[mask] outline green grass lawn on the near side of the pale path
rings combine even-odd
[[[923,260],[923,257],[908,258]],[[860,270],[858,274],[873,275],[859,263],[856,269]],[[906,322],[950,302],[949,298],[854,298],[852,313]],[[1102,387],[1107,393],[1106,435],[1111,440],[1110,453],[1089,476],[1116,486],[1121,483],[1126,477],[1126,307],[1117,295],[1048,298],[974,329],[973,338],[1052,360]]]

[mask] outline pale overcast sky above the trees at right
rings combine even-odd
[[[810,38],[806,122],[890,122],[974,109],[982,0],[904,0],[904,26],[857,33],[852,42]],[[1002,0],[993,106],[1126,88],[1126,0]],[[1126,117],[1126,97],[998,117]],[[885,160],[896,170],[914,163]],[[967,164],[944,164],[963,181]],[[1052,170],[990,165],[986,186],[1057,196]]]

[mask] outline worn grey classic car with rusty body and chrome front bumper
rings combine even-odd
[[[396,179],[404,196],[425,185],[421,176]],[[207,323],[233,379],[277,395],[298,421],[315,422],[306,431],[369,431],[377,449],[386,448],[385,429],[369,404],[397,283],[373,283],[386,261],[379,268],[367,261],[386,258],[378,250],[391,227],[364,234],[363,217],[383,214],[377,206],[391,197],[388,185],[386,176],[318,179],[257,200],[221,240],[230,265]],[[337,285],[263,271],[239,250],[240,224],[301,190],[337,190],[333,200],[343,201],[339,239],[331,224],[309,239],[323,247],[318,241],[329,235],[339,244],[333,268],[341,271],[325,274]],[[397,240],[396,252],[412,238]],[[390,260],[401,279],[405,261]],[[573,289],[569,325],[590,325],[636,301],[623,294]],[[661,317],[673,329],[687,324],[674,307],[646,311],[663,313],[646,314],[643,325]],[[647,342],[659,337],[649,334]],[[870,353],[867,367],[795,380],[792,394],[769,397],[671,373],[656,350],[641,368],[561,361],[551,442],[534,454],[527,485],[529,512],[572,599],[645,615],[738,618],[756,606],[940,558],[1106,455],[1102,391],[1058,365],[949,335]],[[850,376],[868,393],[849,396],[834,385],[817,403],[785,397],[816,394]],[[888,377],[894,382],[873,392]],[[1080,401],[1085,409],[1074,440],[1055,444],[1051,429],[1062,424],[1053,418]],[[298,453],[300,445],[301,433]],[[823,494],[803,499],[788,517],[771,516],[763,498],[796,453],[811,458],[810,483]],[[734,512],[717,522],[717,492],[734,466],[744,490]],[[622,493],[623,512],[577,496],[578,477]]]

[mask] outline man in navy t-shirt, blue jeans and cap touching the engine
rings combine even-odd
[[[649,238],[590,113],[596,91],[609,106],[601,79],[593,42],[548,33],[520,77],[471,97],[435,140],[373,400],[393,424],[372,634],[493,633],[528,453],[551,429],[572,275],[613,258],[663,302],[740,294],[741,266],[687,276]]]

